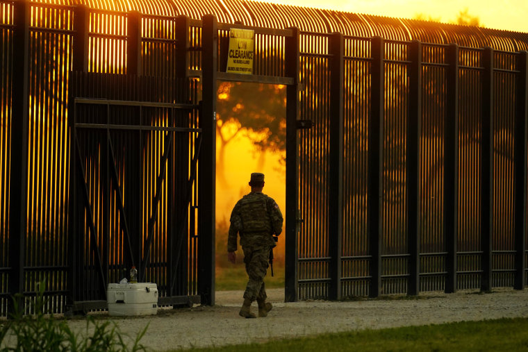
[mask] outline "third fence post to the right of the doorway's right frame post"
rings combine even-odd
[[[407,221],[409,280],[407,294],[420,292],[420,135],[422,133],[422,43],[409,44],[409,114],[406,135]]]

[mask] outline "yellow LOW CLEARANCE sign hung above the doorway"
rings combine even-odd
[[[255,32],[252,29],[231,28],[226,72],[253,74]]]

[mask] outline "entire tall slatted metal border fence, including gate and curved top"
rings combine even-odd
[[[51,311],[104,309],[131,265],[214,304],[218,80],[287,85],[286,301],[527,284],[528,35],[133,6],[0,1],[0,315],[43,278]]]

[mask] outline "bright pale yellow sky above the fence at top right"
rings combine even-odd
[[[327,8],[346,12],[381,15],[387,17],[425,18],[454,22],[461,10],[479,17],[487,28],[528,33],[527,0],[271,0],[267,2],[285,5]]]

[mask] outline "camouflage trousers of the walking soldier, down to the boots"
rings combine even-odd
[[[244,298],[255,301],[257,296],[265,296],[266,294],[263,280],[270,258],[270,249],[245,247],[243,251],[246,272],[247,276],[249,276]]]

